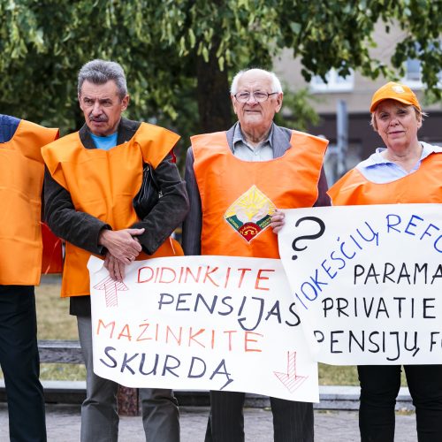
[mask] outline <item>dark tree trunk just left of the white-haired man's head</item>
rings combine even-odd
[[[217,62],[217,43],[210,50],[209,63],[197,57],[197,94],[202,133],[225,131],[232,126],[227,70],[220,71]]]

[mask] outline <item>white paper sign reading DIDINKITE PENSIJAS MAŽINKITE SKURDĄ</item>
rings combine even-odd
[[[279,260],[156,258],[127,266],[123,282],[98,258],[88,269],[98,376],[319,400],[317,364]]]

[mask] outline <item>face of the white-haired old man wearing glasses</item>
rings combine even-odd
[[[240,103],[232,96],[233,110],[238,116],[241,129],[245,132],[265,133],[271,127],[275,113],[281,109],[282,94],[270,95],[262,103],[258,103],[254,92],[272,94],[271,77],[262,72],[244,72],[238,81],[238,92],[250,93],[247,103]]]

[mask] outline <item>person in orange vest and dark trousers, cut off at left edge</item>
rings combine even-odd
[[[46,440],[34,286],[42,270],[42,146],[57,129],[0,114],[0,365],[11,440]]]

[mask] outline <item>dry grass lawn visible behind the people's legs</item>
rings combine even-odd
[[[37,302],[38,339],[78,339],[77,321],[69,315],[69,300],[60,298],[60,278],[46,276],[35,287]],[[86,377],[83,365],[44,363],[42,379],[82,380]],[[355,367],[319,364],[320,385],[359,385]],[[402,385],[405,378],[402,376]]]

